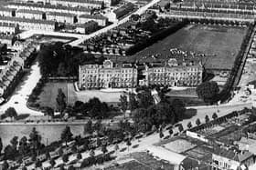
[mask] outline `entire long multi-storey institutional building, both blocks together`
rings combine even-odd
[[[80,65],[79,87],[91,89],[137,85],[195,86],[201,84],[202,74],[203,67],[200,62],[180,64],[176,58],[169,59],[165,64],[144,64],[142,68],[134,64],[114,64],[111,60],[105,60],[102,65]]]

